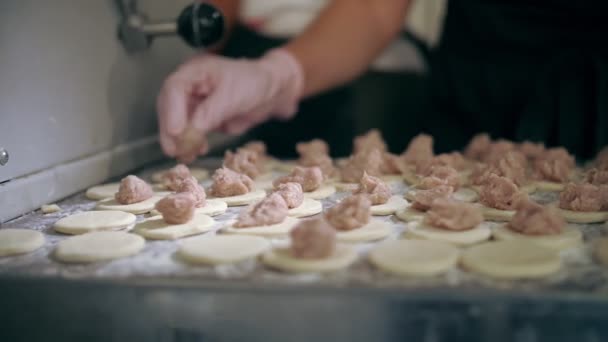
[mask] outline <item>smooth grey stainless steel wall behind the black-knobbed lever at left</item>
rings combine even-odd
[[[140,7],[156,22],[189,3]],[[129,55],[119,18],[114,1],[0,1],[0,182],[156,136],[160,85],[193,51],[167,37]]]

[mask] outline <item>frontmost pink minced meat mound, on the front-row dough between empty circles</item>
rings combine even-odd
[[[305,220],[289,233],[291,255],[298,259],[323,259],[336,248],[336,230],[323,218]]]

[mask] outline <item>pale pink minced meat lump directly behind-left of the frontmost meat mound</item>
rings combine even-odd
[[[242,210],[234,227],[247,228],[278,224],[285,220],[288,210],[283,197],[278,193],[272,193]]]

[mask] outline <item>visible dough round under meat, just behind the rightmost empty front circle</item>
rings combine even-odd
[[[575,247],[583,241],[581,231],[571,226],[566,226],[560,234],[525,235],[507,228],[506,225],[501,225],[492,230],[492,235],[496,240],[526,240],[555,250]]]

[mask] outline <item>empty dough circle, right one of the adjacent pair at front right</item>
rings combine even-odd
[[[542,278],[557,272],[561,260],[557,251],[529,241],[486,242],[462,254],[468,270],[494,278]]]

